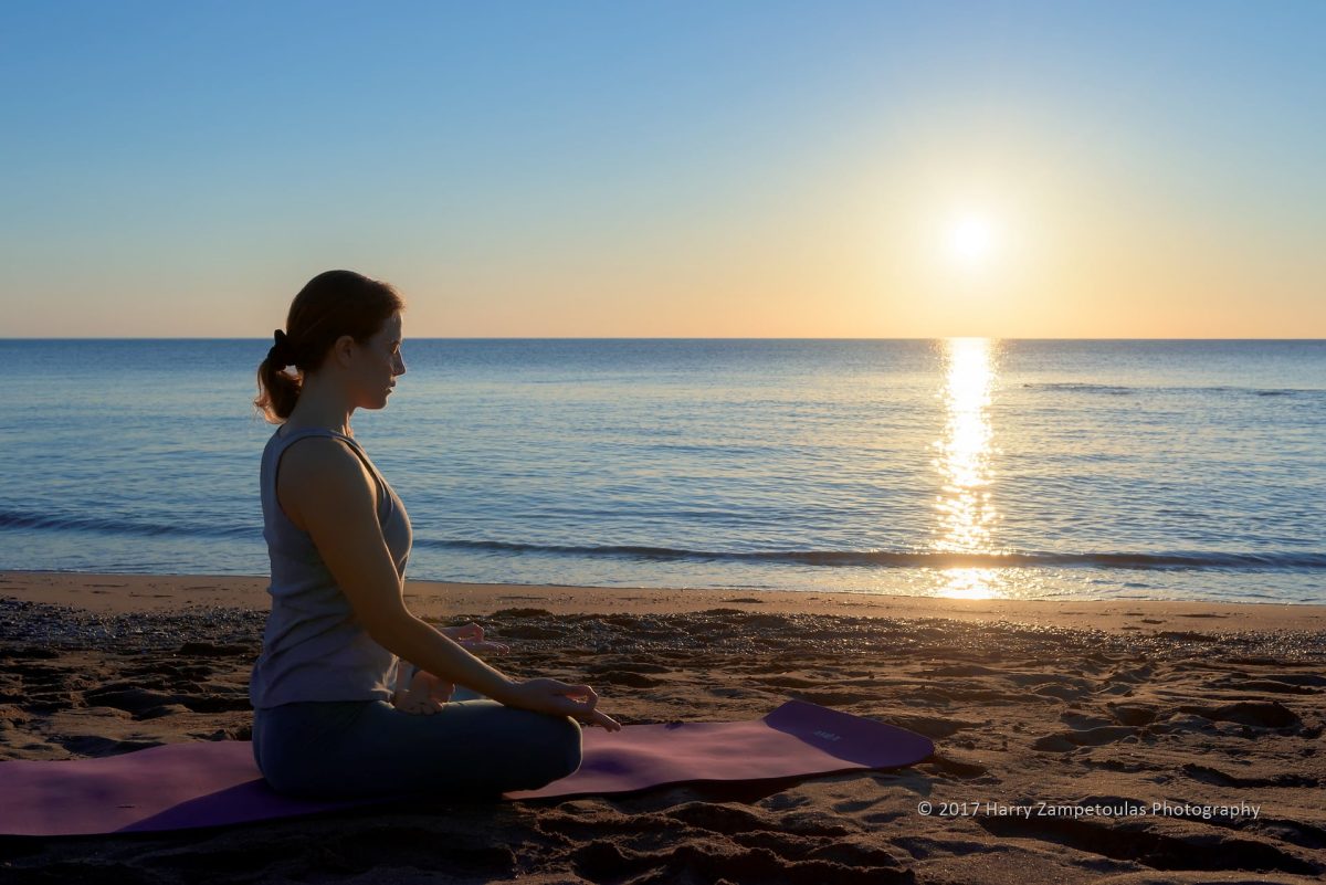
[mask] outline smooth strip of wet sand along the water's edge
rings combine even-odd
[[[271,607],[267,586],[267,576],[0,571],[0,596],[72,605],[99,615],[183,612],[204,607],[267,611]],[[1270,601],[953,599],[861,592],[468,584],[408,579],[404,596],[415,615],[434,620],[511,608],[541,608],[550,615],[676,615],[733,608],[895,620],[1002,621],[1134,635],[1326,631],[1326,605]]]

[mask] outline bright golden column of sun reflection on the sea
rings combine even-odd
[[[993,428],[989,419],[994,386],[996,342],[988,338],[949,338],[943,342],[947,372],[944,439],[935,444],[934,465],[944,485],[936,495],[939,552],[996,552],[992,530],[998,511],[991,499]],[[992,568],[945,568],[940,596],[989,599],[1002,595]]]

